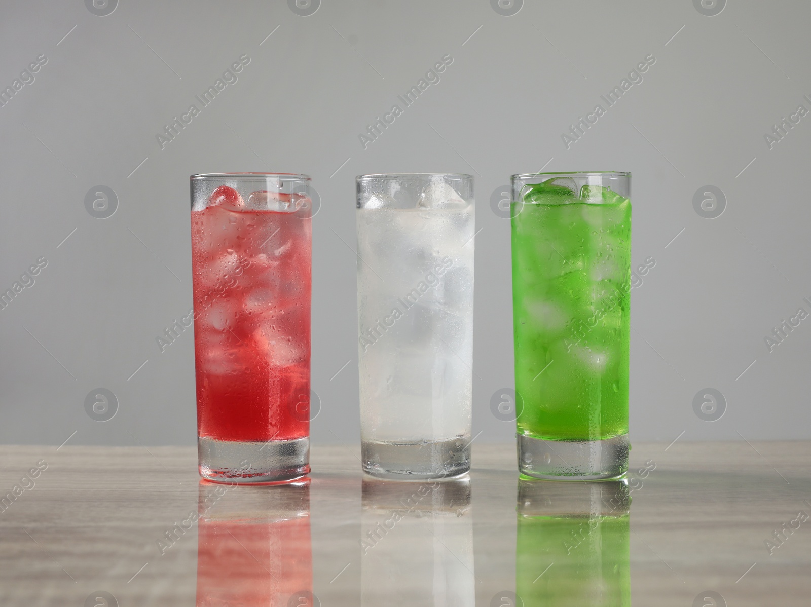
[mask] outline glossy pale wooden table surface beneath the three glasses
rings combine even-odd
[[[633,445],[630,553],[615,569],[629,567],[633,605],[809,605],[811,442],[665,447]],[[440,488],[371,481],[343,445],[313,447],[311,481],[284,487],[202,483],[191,447],[6,446],[0,458],[2,605],[489,607],[513,605],[501,597],[517,581],[567,571],[543,570],[543,536],[535,582],[526,538],[517,567],[513,444],[474,443],[470,480]]]

